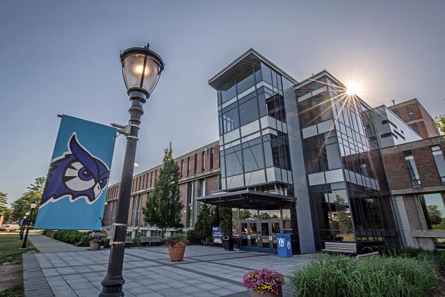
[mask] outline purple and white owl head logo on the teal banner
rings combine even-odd
[[[65,197],[70,202],[83,198],[93,204],[108,183],[110,168],[81,145],[76,132],[70,137],[67,149],[51,161],[41,207]]]

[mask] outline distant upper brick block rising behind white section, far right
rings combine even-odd
[[[439,130],[434,125],[434,119],[422,106],[418,99],[414,98],[388,106],[399,118],[410,125],[421,138],[439,136]]]

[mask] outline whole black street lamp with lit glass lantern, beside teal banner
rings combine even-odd
[[[122,266],[124,264],[131,181],[133,179],[140,118],[144,113],[143,104],[152,93],[164,68],[161,56],[150,50],[148,44],[145,47],[131,47],[122,51],[120,61],[131,106],[129,109],[129,123],[119,130],[121,134],[127,136],[127,147],[120,180],[118,212],[116,221],[113,223],[114,237],[108,259],[108,271],[106,277],[102,280],[102,293],[99,294],[102,297],[124,296],[122,284],[125,280],[122,277]]]

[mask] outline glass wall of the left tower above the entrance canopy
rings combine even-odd
[[[267,65],[257,63],[246,66],[218,90],[223,189],[292,183],[291,173],[273,170],[291,172],[283,83],[291,84]]]

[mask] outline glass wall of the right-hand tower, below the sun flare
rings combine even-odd
[[[296,89],[307,173],[337,183],[310,186],[318,249],[325,241],[398,244],[370,108],[323,76]],[[360,246],[360,245],[359,245]]]

